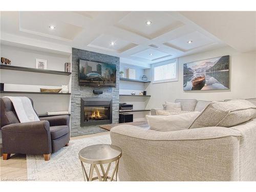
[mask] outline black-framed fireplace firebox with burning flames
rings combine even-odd
[[[112,99],[81,98],[81,126],[112,123]]]

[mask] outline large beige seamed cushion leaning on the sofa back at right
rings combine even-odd
[[[212,101],[195,119],[189,129],[206,126],[230,127],[255,117],[256,106],[247,100]]]

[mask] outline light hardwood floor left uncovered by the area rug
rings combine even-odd
[[[71,137],[71,140],[95,137],[106,134],[109,134],[109,132]],[[28,176],[26,155],[12,154],[10,159],[4,161],[2,157],[2,145],[0,145],[0,148],[0,181],[27,181]]]

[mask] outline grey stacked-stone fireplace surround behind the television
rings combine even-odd
[[[78,85],[79,58],[114,63],[117,69],[116,88],[98,88]],[[80,126],[81,98],[108,98],[112,99],[112,123],[119,120],[119,57],[72,48],[72,75],[71,75],[71,137],[105,132],[98,125]],[[93,90],[101,90],[103,94],[95,95]]]

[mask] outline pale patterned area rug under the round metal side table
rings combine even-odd
[[[27,155],[28,179],[35,181],[83,181],[78,152],[83,147],[94,144],[111,144],[110,135],[71,140],[69,146],[62,147],[61,150],[52,154],[50,161],[45,161],[42,155]],[[90,164],[84,165],[89,172]],[[111,173],[113,169],[114,163],[110,169]]]

